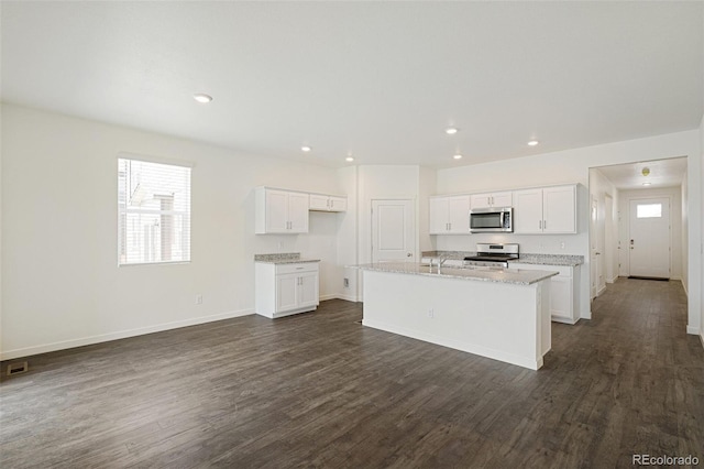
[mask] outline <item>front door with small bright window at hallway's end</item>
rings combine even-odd
[[[630,200],[630,276],[670,277],[670,198]]]

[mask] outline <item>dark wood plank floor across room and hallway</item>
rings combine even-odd
[[[537,372],[365,328],[342,301],[36,356],[0,383],[0,466],[704,465],[685,304],[679,282],[619,280],[592,320],[553,324]]]

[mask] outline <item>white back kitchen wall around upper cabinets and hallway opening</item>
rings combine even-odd
[[[469,192],[484,192],[496,189],[512,189],[526,186],[554,185],[565,183],[588,184],[590,167],[610,164],[634,163],[638,161],[662,160],[667,157],[688,156],[689,179],[688,190],[690,200],[690,223],[702,225],[702,154],[700,131],[670,133],[647,139],[629,140],[596,146],[587,146],[562,152],[544,153],[521,159],[498,161],[449,170],[438,171],[438,193],[459,194]],[[564,253],[581,254],[588,263],[588,204],[584,199],[578,206],[579,234],[565,237],[525,237],[519,241],[534,250],[542,244],[542,249],[551,251],[561,238],[565,240]],[[450,236],[438,237],[438,249],[459,247],[466,249],[479,240],[479,237],[468,236],[457,239]],[[498,240],[498,239],[497,239]],[[691,230],[689,238],[690,252],[698,251],[702,240],[701,230]],[[528,252],[524,249],[524,252]],[[689,265],[689,318],[688,331],[697,334],[701,321],[702,303],[702,258],[693,258]],[[582,269],[581,314],[588,314],[588,264]]]

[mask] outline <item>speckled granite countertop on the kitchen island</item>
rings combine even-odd
[[[438,273],[437,266],[430,269],[428,265],[417,262],[378,262],[373,264],[354,265],[354,268],[375,272],[426,275],[442,279],[460,279],[481,282],[512,283],[516,285],[531,285],[546,279],[550,279],[553,275],[558,275],[558,272],[484,266],[462,269],[443,266],[441,269],[441,273]]]

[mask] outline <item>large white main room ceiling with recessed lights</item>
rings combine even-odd
[[[700,1],[3,1],[1,14],[3,101],[251,155],[447,167],[691,130],[704,112]]]

